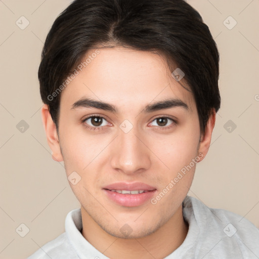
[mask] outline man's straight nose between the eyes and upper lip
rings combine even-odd
[[[147,141],[146,141],[147,142]],[[136,129],[128,133],[119,130],[113,143],[111,166],[124,174],[147,170],[151,165],[151,151]]]

